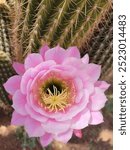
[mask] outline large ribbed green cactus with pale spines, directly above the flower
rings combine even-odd
[[[20,61],[27,53],[37,52],[44,43],[51,47],[59,44],[64,48],[71,45],[81,48],[111,5],[111,0],[17,1],[12,10],[15,23],[12,39],[18,43],[14,44],[14,53],[21,56]]]

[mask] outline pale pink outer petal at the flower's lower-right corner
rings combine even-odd
[[[91,112],[91,119],[89,124],[97,125],[103,122],[103,116],[100,111]]]

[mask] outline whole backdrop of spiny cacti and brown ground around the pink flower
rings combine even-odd
[[[0,150],[112,150],[113,116],[112,0],[0,0]],[[42,148],[23,128],[10,126],[11,100],[3,83],[16,74],[12,62],[50,47],[77,46],[81,56],[102,66],[101,80],[111,84],[103,108],[104,123],[88,126],[68,144],[54,141]]]

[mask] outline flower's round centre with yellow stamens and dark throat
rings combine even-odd
[[[50,112],[65,111],[71,106],[71,87],[67,82],[57,78],[45,81],[40,88],[40,105]]]

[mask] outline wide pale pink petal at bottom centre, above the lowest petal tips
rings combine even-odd
[[[57,122],[55,120],[48,120],[45,124],[42,124],[42,126],[46,132],[53,134],[66,132],[70,128],[69,123]]]

